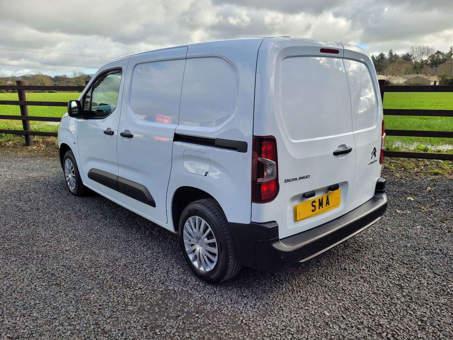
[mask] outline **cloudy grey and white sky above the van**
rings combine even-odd
[[[453,0],[0,0],[0,75],[94,73],[110,60],[99,57],[281,35],[447,51],[452,14]]]

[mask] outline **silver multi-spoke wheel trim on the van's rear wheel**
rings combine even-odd
[[[217,264],[217,239],[209,224],[199,216],[189,217],[184,223],[184,248],[193,267],[210,272]]]

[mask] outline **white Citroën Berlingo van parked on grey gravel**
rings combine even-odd
[[[278,271],[368,228],[387,206],[370,55],[256,38],[118,58],[68,103],[58,146],[87,188],[178,233],[208,282]]]

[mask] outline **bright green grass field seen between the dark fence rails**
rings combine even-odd
[[[67,102],[77,99],[80,93],[28,93],[27,100]],[[17,100],[16,93],[0,93],[0,100]],[[394,109],[437,109],[453,110],[453,93],[440,92],[389,92],[384,96],[384,107]],[[30,116],[61,117],[66,112],[66,107],[29,106]],[[19,107],[14,105],[0,105],[0,114],[20,115]],[[406,117],[385,116],[387,129],[408,130],[439,130],[453,131],[453,117]],[[58,124],[48,122],[30,121],[31,129],[35,131],[58,130]],[[0,129],[22,129],[21,121],[0,120]],[[13,135],[0,134],[0,142],[17,138]],[[428,146],[431,149],[453,149],[453,139],[428,138],[428,137],[399,137],[387,136],[389,148],[412,150],[418,145]]]

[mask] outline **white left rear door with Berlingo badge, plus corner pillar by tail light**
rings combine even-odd
[[[289,38],[261,44],[254,135],[275,136],[279,193],[252,204],[252,221],[275,220],[280,238],[350,210],[356,145],[342,56],[340,43]],[[323,195],[332,192],[334,206],[326,209]]]

